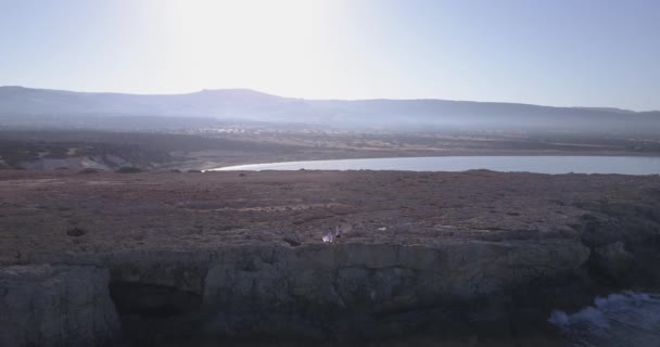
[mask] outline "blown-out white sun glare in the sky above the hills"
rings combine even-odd
[[[323,61],[328,23],[320,1],[198,0],[158,7],[168,51],[176,68],[186,70],[180,78],[188,85],[277,80],[285,89],[282,81],[310,81],[314,64]]]

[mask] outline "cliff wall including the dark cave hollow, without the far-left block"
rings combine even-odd
[[[156,318],[175,329],[180,314],[187,327],[195,327],[193,334],[203,336],[325,338],[405,332],[406,324],[442,319],[439,311],[450,310],[447,304],[506,295],[579,272],[588,257],[576,241],[545,240],[241,245],[116,254],[102,264],[112,273],[115,304],[130,314],[162,313]]]

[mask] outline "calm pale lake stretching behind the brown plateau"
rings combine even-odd
[[[443,156],[287,162],[221,167],[213,170],[406,170],[487,169],[538,174],[660,174],[660,157],[644,156]]]

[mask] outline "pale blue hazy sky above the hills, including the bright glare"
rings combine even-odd
[[[660,110],[660,1],[0,0],[0,85]]]

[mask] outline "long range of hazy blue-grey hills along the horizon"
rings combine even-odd
[[[42,120],[51,119],[52,123],[49,117],[62,123],[66,123],[69,117],[82,127],[90,119],[97,123],[101,120],[102,127],[103,121],[116,123],[117,116],[150,117],[149,119],[153,116],[167,116],[170,117],[170,123],[178,119],[182,124],[205,118],[207,121],[202,121],[201,125],[214,119],[234,119],[339,128],[660,131],[659,111],[549,107],[434,99],[305,100],[249,89],[203,90],[183,94],[125,94],[0,87],[0,123],[4,125],[26,126],[24,123],[29,123],[39,126]]]

